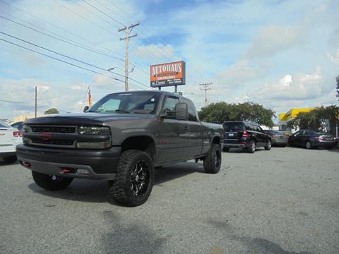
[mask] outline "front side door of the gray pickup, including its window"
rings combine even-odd
[[[179,98],[168,95],[162,107],[164,111],[174,111]],[[175,115],[175,113],[174,113]],[[189,147],[189,123],[169,116],[160,119],[159,123],[159,162],[175,162],[187,157]]]

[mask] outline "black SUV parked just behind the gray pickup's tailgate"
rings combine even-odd
[[[231,147],[242,147],[248,152],[256,152],[256,147],[265,147],[270,150],[271,140],[263,133],[258,123],[249,121],[225,121],[222,150],[227,152]]]

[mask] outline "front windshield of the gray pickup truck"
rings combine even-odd
[[[102,114],[155,114],[159,94],[156,92],[121,92],[103,97],[86,112]]]

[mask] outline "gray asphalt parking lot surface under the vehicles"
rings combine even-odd
[[[219,174],[158,169],[141,207],[107,201],[105,181],[44,191],[0,162],[0,253],[339,253],[339,150],[222,154]]]

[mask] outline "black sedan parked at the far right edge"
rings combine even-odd
[[[337,145],[337,140],[334,140],[333,135],[323,131],[300,130],[290,135],[288,143],[291,146],[302,146],[307,149],[313,147],[325,147],[332,149]]]

